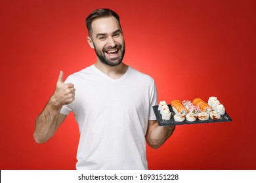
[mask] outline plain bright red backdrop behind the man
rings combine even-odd
[[[65,77],[96,61],[85,17],[121,17],[131,67],[151,75],[158,100],[217,96],[232,122],[179,125],[150,169],[256,169],[253,1],[1,1],[0,169],[75,169],[73,114],[45,144],[35,118]]]

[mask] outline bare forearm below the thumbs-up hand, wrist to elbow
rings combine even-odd
[[[35,120],[35,131],[33,137],[37,143],[43,143],[53,137],[56,129],[56,120],[60,114],[62,105],[56,102],[52,96],[41,114]]]

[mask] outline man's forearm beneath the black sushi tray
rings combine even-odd
[[[154,124],[152,130],[148,131],[146,141],[148,145],[154,149],[160,148],[160,146],[173,134],[175,125],[172,126],[158,126]]]

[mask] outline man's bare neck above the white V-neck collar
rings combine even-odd
[[[128,69],[128,65],[125,65],[124,63],[120,63],[116,66],[110,66],[102,63],[101,61],[96,61],[95,67],[112,79],[120,78],[126,73]]]

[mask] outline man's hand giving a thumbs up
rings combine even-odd
[[[68,105],[75,99],[75,86],[72,83],[65,84],[63,82],[64,73],[60,71],[58,81],[56,84],[56,90],[52,96],[52,101],[57,106]]]

